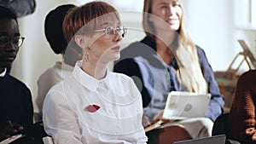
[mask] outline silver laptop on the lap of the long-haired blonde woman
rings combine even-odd
[[[171,121],[205,117],[211,94],[172,91],[166,101],[163,119]]]

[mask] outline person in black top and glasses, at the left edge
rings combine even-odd
[[[31,91],[7,72],[23,40],[16,15],[0,6],[0,141],[33,124]]]

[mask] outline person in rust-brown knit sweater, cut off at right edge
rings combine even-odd
[[[256,143],[256,70],[244,72],[236,83],[228,118],[232,139],[241,144]]]

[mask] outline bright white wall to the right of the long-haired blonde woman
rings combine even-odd
[[[248,9],[253,6],[252,9],[256,9],[256,4],[249,2],[255,3],[255,0],[182,1],[190,36],[206,51],[214,71],[227,70],[235,55],[243,50],[238,39],[244,39],[255,56],[256,22],[250,22]],[[253,11],[252,14],[254,19],[256,14]],[[242,65],[239,72],[247,71],[247,68]]]

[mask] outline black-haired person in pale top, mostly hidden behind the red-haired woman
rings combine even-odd
[[[38,96],[36,99],[38,105],[39,119],[42,119],[42,108],[44,97],[48,90],[55,84],[59,83],[63,78],[67,78],[73,72],[73,66],[77,60],[82,59],[82,50],[77,49],[73,51],[67,51],[69,53],[64,56],[67,48],[67,41],[63,36],[62,23],[65,15],[70,9],[73,9],[75,5],[64,4],[51,10],[46,15],[44,21],[44,33],[47,41],[49,42],[50,48],[55,52],[56,55],[61,54],[63,61],[56,61],[55,65],[47,69],[38,78]]]

